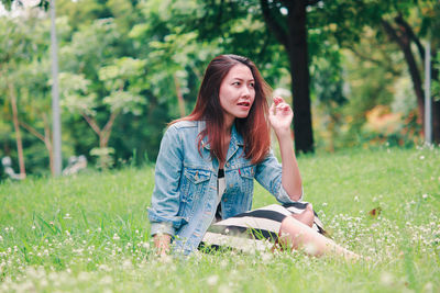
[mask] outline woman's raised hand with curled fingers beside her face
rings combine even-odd
[[[294,119],[294,111],[280,97],[274,98],[274,103],[268,111],[268,121],[275,133],[282,134],[283,132],[290,133],[290,124]]]

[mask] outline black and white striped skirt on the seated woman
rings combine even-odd
[[[306,206],[306,202],[271,204],[222,219],[208,228],[199,248],[201,250],[219,248],[264,250],[272,248],[274,244],[278,243],[283,219],[304,212]],[[322,223],[316,213],[311,228],[324,234]]]

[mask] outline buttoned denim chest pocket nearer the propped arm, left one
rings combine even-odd
[[[182,201],[190,204],[208,189],[211,172],[202,169],[184,168],[182,178]]]

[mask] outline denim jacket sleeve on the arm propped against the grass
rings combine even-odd
[[[152,206],[148,207],[151,235],[174,236],[182,225],[178,185],[183,169],[183,144],[176,127],[170,126],[164,134],[158,151]]]

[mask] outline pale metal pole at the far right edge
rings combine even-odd
[[[431,113],[431,42],[425,49],[425,143],[432,144],[432,113]]]

